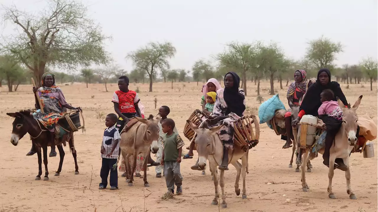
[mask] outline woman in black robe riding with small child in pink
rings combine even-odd
[[[322,104],[320,101],[320,94],[325,89],[330,89],[334,92],[335,95],[333,101],[337,101],[336,97],[338,97],[345,106],[348,105],[345,95],[341,91],[340,84],[335,81],[331,81],[331,72],[326,68],[320,69],[316,83],[312,84],[310,88],[308,88],[306,95],[302,100],[298,117],[292,123],[293,126],[296,126],[297,123],[299,123],[303,115],[319,116],[318,109]],[[325,130],[327,131],[327,135],[325,137],[323,164],[329,166],[330,148],[333,140],[335,139],[336,133],[341,127],[342,121],[338,121],[333,117],[328,117],[327,115],[321,115],[319,118],[325,123]],[[347,166],[345,166],[341,158],[336,158],[335,162],[338,164],[338,166],[335,167],[341,169],[342,171],[346,171]]]

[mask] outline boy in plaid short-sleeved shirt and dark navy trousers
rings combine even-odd
[[[108,128],[104,131],[104,137],[101,144],[101,183],[99,189],[105,189],[108,184],[108,175],[110,171],[110,190],[118,189],[118,172],[117,172],[117,158],[119,155],[119,135],[118,130],[115,128],[117,122],[116,114],[108,114],[105,118],[105,126]],[[113,168],[115,166],[115,168]]]

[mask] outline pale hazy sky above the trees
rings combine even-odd
[[[1,0],[37,11],[45,0]],[[149,41],[170,41],[177,54],[171,68],[191,69],[211,59],[230,41],[276,41],[293,59],[304,56],[308,41],[321,35],[340,41],[337,65],[378,59],[376,0],[84,0],[89,15],[113,37],[106,49],[130,71],[128,52]],[[3,11],[2,11],[3,12]],[[10,25],[1,29],[10,33]],[[3,25],[2,25],[3,28]]]

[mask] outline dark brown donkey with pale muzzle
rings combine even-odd
[[[9,115],[14,119],[13,121],[13,130],[11,135],[11,143],[14,146],[17,146],[19,140],[26,134],[29,133],[31,137],[31,142],[33,145],[36,145],[37,149],[37,155],[38,155],[38,165],[39,165],[39,171],[38,175],[36,177],[36,180],[41,179],[42,175],[42,153],[41,153],[41,147],[43,149],[43,163],[45,164],[45,177],[43,177],[43,180],[48,180],[48,169],[47,169],[47,147],[54,145],[51,144],[51,141],[53,141],[53,138],[51,138],[53,135],[50,131],[46,130],[46,128],[43,127],[42,124],[40,124],[37,120],[33,118],[33,114],[31,111],[20,111],[15,113],[7,113],[6,115]],[[62,171],[62,164],[64,159],[64,150],[62,147],[62,143],[67,140],[67,137],[64,137],[62,139],[61,143],[57,145],[59,150],[59,168],[58,171],[56,171],[55,176],[59,176],[60,171]],[[75,161],[75,174],[79,174],[79,167],[77,166],[77,160],[76,160],[76,150],[73,144],[73,133],[70,133],[68,138],[68,145],[70,146],[70,149],[72,150],[73,159]]]

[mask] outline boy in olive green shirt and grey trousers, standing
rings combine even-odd
[[[182,194],[183,177],[180,173],[181,152],[184,146],[184,141],[180,135],[175,133],[175,122],[170,119],[164,119],[161,123],[161,129],[166,135],[163,137],[163,156],[161,158],[161,165],[164,165],[164,177],[168,192],[174,194],[175,184],[177,186],[176,194]]]

